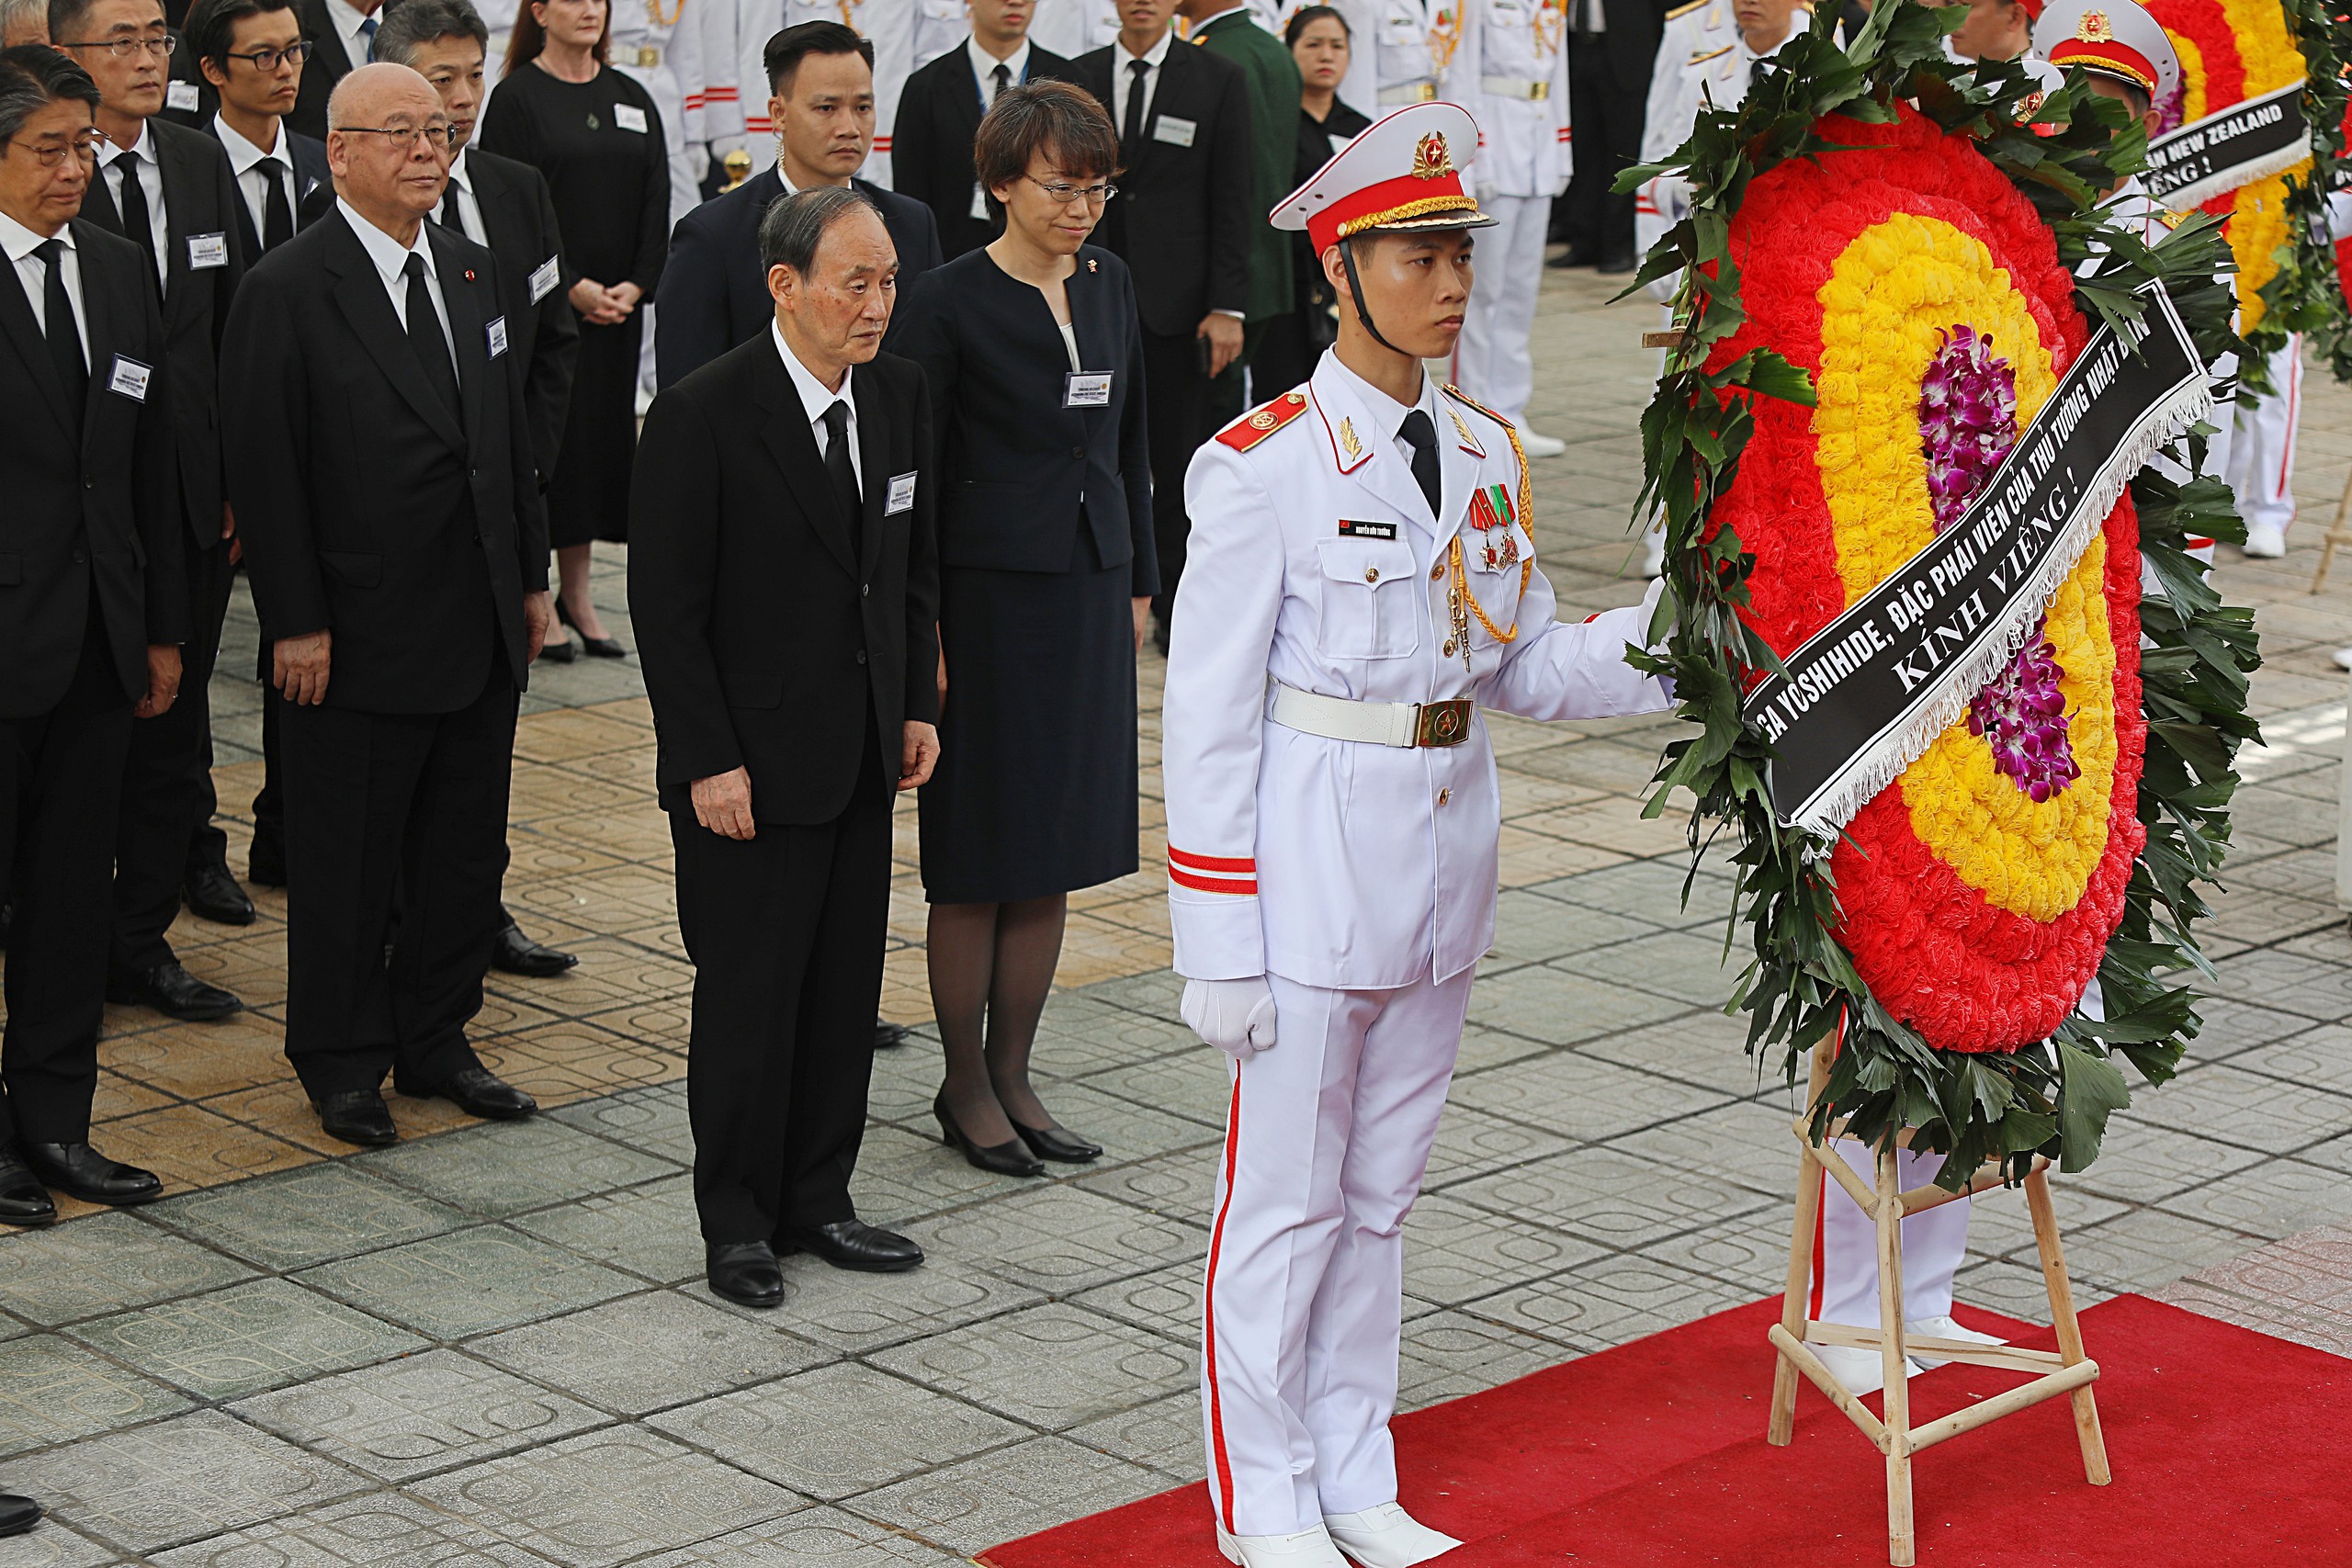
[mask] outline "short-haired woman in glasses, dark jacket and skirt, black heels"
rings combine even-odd
[[[924,273],[891,339],[941,433],[934,1110],[971,1164],[1040,1175],[1101,1154],[1054,1124],[1028,1058],[1068,893],[1136,870],[1136,649],[1160,569],[1134,284],[1087,244],[1115,195],[1110,115],[1068,82],[1009,87],[974,162],[1004,233]]]

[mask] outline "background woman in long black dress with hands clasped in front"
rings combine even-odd
[[[562,287],[581,317],[564,444],[548,477],[555,614],[600,658],[621,644],[588,599],[588,552],[628,538],[628,475],[637,451],[637,306],[670,254],[670,153],[652,94],[604,63],[604,0],[522,0],[482,146],[536,167],[564,235]],[[541,658],[569,663],[572,642]]]

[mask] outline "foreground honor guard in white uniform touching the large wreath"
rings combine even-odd
[[[1668,701],[1625,663],[1649,604],[1555,623],[1517,430],[1421,371],[1470,303],[1465,230],[1494,223],[1456,172],[1475,146],[1454,103],[1402,108],[1275,209],[1319,252],[1338,343],[1185,480],[1169,914],[1183,1018],[1235,1058],[1202,1410],[1218,1544],[1247,1568],[1458,1544],[1397,1507],[1388,1418],[1399,1227],[1494,943],[1479,710]]]

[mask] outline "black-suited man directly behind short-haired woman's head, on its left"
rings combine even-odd
[[[997,237],[988,200],[971,172],[971,139],[981,115],[1007,87],[1077,80],[1070,61],[1028,40],[1035,0],[971,0],[971,38],[906,78],[898,122],[891,127],[889,172],[938,219],[938,249],[948,256],[981,249]]]

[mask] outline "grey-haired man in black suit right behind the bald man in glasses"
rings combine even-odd
[[[510,353],[524,367],[522,411],[532,425],[532,465],[539,468],[543,491],[564,440],[581,327],[562,289],[562,237],[546,176],[527,162],[473,146],[487,47],[489,26],[468,0],[402,0],[383,14],[376,31],[376,59],[409,66],[433,82],[449,129],[456,132],[456,158],[449,160],[449,186],[435,221],[487,244],[499,259]],[[527,938],[503,905],[499,917],[492,969],[548,978],[579,964],[579,957]]]

